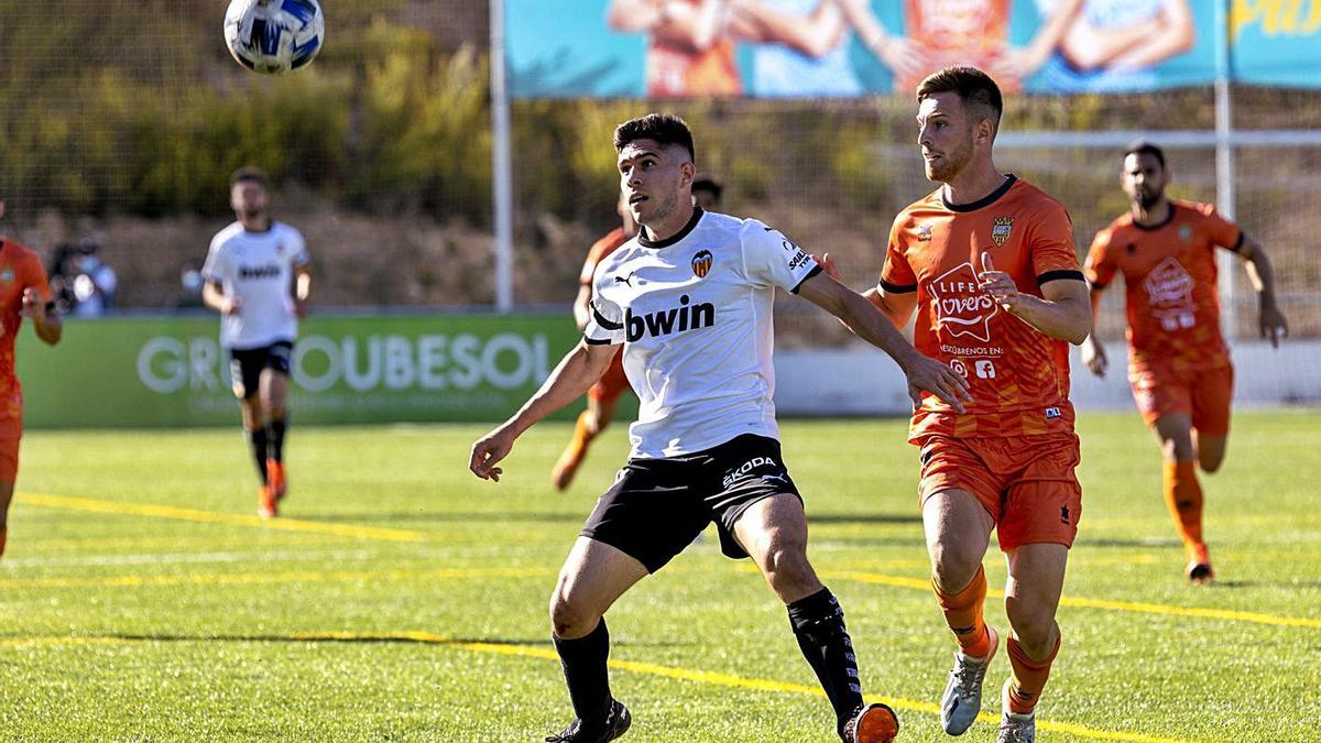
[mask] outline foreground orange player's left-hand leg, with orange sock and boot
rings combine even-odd
[[[941,697],[941,723],[950,735],[962,735],[982,711],[982,685],[1000,644],[983,619],[987,579],[982,559],[995,522],[971,493],[950,489],[926,500],[922,524],[931,558],[931,587],[959,643]]]

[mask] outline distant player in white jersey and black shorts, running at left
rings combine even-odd
[[[262,477],[258,513],[269,518],[288,489],[285,397],[312,274],[303,235],[269,217],[271,197],[262,171],[240,168],[234,173],[230,206],[238,221],[211,238],[202,268],[202,300],[221,313],[221,345],[230,354],[234,395]]]

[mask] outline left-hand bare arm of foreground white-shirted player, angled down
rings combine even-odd
[[[609,344],[579,341],[546,378],[542,389],[523,403],[509,420],[473,444],[468,468],[482,480],[499,483],[503,469],[495,467],[514,450],[514,442],[547,415],[576,401],[605,374],[618,350]]]

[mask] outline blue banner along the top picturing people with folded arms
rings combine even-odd
[[[1217,0],[1232,75],[1321,86],[1321,0]],[[1217,3],[1193,0],[506,0],[517,98],[911,95],[968,63],[1007,91],[1215,79]],[[1232,5],[1230,8],[1230,5]]]

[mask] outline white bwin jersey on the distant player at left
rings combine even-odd
[[[299,336],[293,305],[293,270],[308,263],[299,230],[271,222],[264,233],[250,233],[234,222],[211,238],[202,278],[238,297],[239,311],[221,319],[221,346],[248,350]]]

